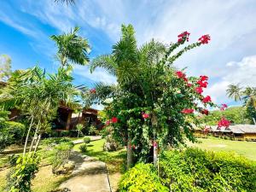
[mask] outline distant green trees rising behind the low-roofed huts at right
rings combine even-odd
[[[223,116],[234,124],[246,124],[249,121],[249,119],[247,119],[246,108],[232,107],[224,111],[212,111],[209,115],[203,116],[201,122],[205,125],[217,125],[219,119]]]

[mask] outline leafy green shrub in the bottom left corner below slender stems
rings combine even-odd
[[[16,166],[11,168],[8,176],[7,189],[9,192],[30,192],[31,181],[38,171],[38,157],[30,154],[20,156],[16,161]]]

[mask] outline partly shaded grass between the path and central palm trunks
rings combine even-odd
[[[126,152],[125,148],[121,148],[118,151],[113,152],[103,151],[104,142],[104,139],[90,142],[88,144],[87,152],[84,154],[95,157],[97,160],[102,160],[106,163],[111,186],[113,191],[116,191],[118,189],[118,183],[120,177],[122,176],[122,172],[125,172]],[[74,149],[79,151],[80,145],[81,144],[75,145]]]

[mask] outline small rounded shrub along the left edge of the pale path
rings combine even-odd
[[[52,172],[56,173],[56,170],[67,163],[71,150],[73,148],[73,143],[72,142],[67,142],[67,143],[60,143],[55,146],[54,148],[54,154],[50,160],[52,164]]]

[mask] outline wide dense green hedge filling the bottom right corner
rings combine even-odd
[[[255,191],[256,165],[227,152],[198,148],[160,155],[160,177],[172,191]]]

